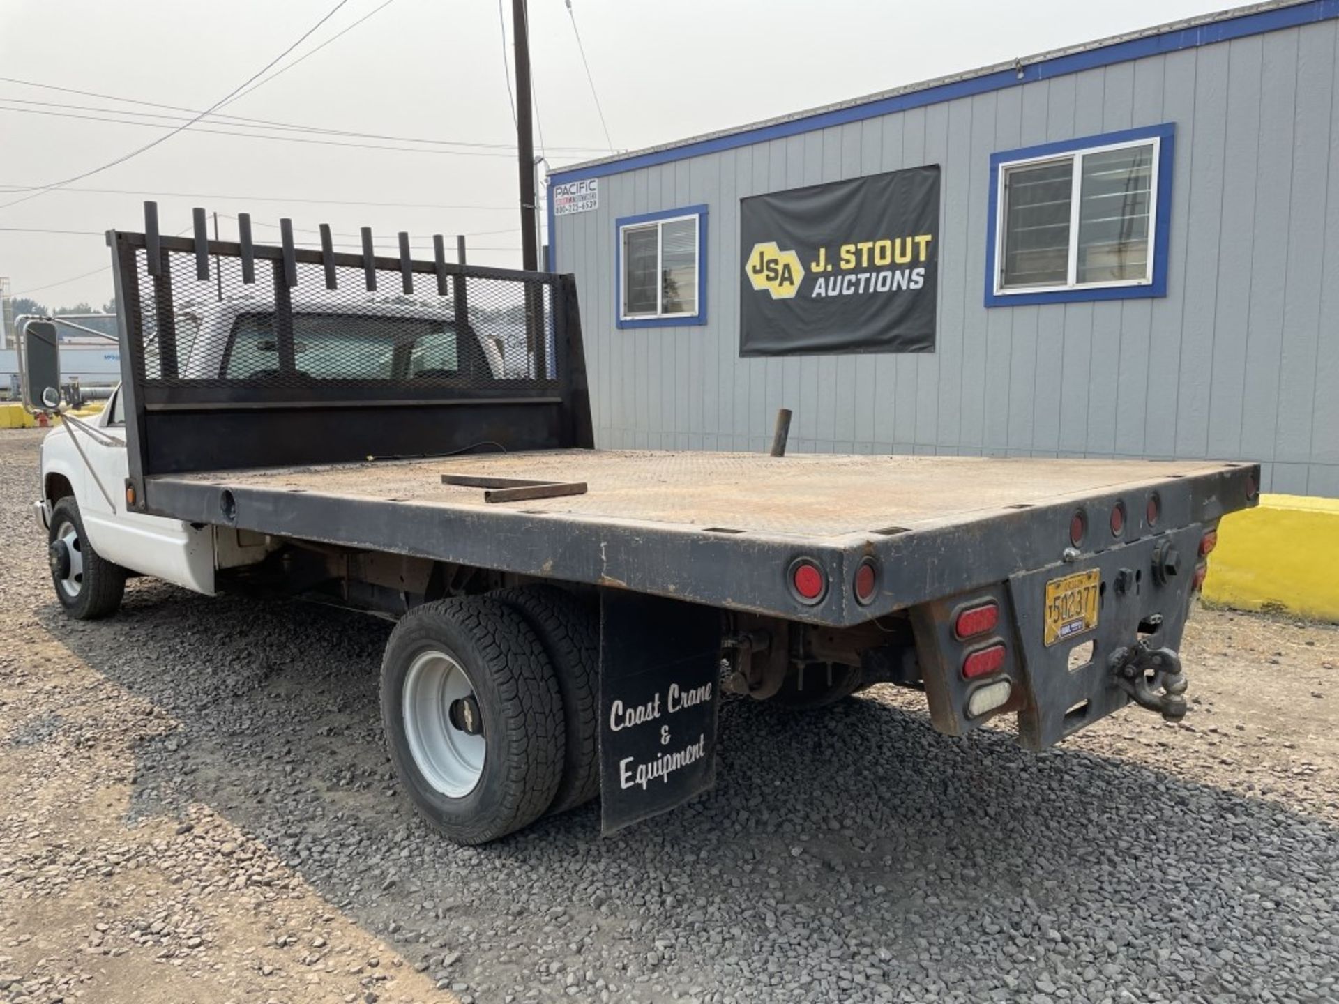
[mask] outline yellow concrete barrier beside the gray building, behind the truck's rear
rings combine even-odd
[[[1339,621],[1339,499],[1261,495],[1224,517],[1204,598]]]

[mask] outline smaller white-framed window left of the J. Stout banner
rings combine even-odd
[[[700,217],[624,226],[623,317],[688,317],[698,313]]]

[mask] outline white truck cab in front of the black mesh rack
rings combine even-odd
[[[281,378],[274,317],[273,300],[258,297],[213,303],[208,311],[178,311],[174,321],[182,375],[200,383]],[[375,300],[332,308],[329,303],[296,300],[292,317],[293,359],[301,380],[467,380],[478,373],[502,378],[507,371],[503,335],[481,337],[467,329],[462,339],[454,317],[441,309],[388,307]],[[214,529],[137,511],[126,498],[129,478],[122,387],[91,423],[75,426],[67,419],[43,442],[39,522],[51,531],[59,503],[72,499],[78,505],[76,517],[62,513],[50,556],[54,572],[64,570],[58,597],[72,610],[88,609],[90,594],[83,592],[86,541],[111,565],[198,593],[216,592]]]

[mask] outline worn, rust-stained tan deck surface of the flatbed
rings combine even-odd
[[[154,481],[832,538],[969,522],[1002,510],[1138,490],[1224,467],[1210,462],[550,450],[204,471]],[[487,503],[482,489],[443,485],[443,474],[585,482],[588,491]]]

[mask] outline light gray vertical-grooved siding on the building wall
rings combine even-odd
[[[1334,20],[600,179],[557,220],[600,446],[1248,458],[1339,495],[1339,32]],[[1168,296],[986,309],[990,155],[1174,122]],[[932,355],[739,359],[739,199],[943,165]],[[706,203],[707,319],[615,327],[615,220]]]

